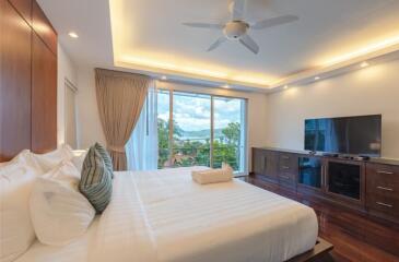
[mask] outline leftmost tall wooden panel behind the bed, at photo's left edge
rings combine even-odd
[[[31,27],[0,1],[0,162],[31,146]]]

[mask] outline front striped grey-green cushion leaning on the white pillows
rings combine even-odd
[[[113,179],[101,154],[94,146],[90,147],[84,158],[79,190],[86,196],[97,214],[103,213],[110,201]]]

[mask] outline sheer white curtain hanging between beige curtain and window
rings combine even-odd
[[[126,156],[128,170],[153,170],[157,168],[157,111],[156,85],[153,81],[128,143]]]

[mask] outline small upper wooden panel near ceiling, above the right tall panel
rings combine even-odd
[[[33,1],[32,25],[48,48],[57,55],[57,33],[36,1]]]

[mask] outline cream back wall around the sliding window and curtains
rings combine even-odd
[[[86,148],[98,141],[105,144],[104,132],[101,126],[96,95],[93,67],[80,67],[78,70],[78,136],[79,147]],[[201,92],[214,95],[243,97],[248,99],[248,151],[253,146],[263,146],[266,140],[266,100],[265,94],[236,92],[221,88],[206,88],[192,85],[171,84],[160,82],[160,88],[175,88],[179,91]],[[250,156],[248,167],[250,170]]]

